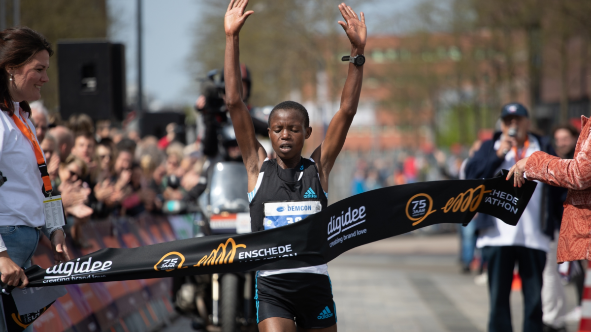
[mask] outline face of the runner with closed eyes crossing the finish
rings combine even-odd
[[[299,157],[311,129],[304,128],[304,119],[296,110],[276,110],[271,118],[269,138],[277,157],[285,160]]]

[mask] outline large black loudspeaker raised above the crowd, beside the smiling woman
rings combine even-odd
[[[61,118],[86,113],[93,120],[123,120],[125,46],[108,41],[57,43]]]

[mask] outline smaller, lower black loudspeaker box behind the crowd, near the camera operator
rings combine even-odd
[[[139,131],[142,138],[147,135],[154,135],[158,139],[163,138],[166,135],[166,125],[174,122],[177,126],[177,141],[187,144],[185,126],[184,126],[185,115],[178,112],[156,112],[156,113],[143,113],[139,119]]]

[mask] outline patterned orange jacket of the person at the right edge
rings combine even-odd
[[[529,180],[569,190],[558,237],[557,262],[591,259],[591,121],[581,116],[582,131],[574,159],[534,152],[525,164]]]

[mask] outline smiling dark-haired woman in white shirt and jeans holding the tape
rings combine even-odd
[[[44,199],[51,181],[28,102],[41,98],[48,82],[51,45],[27,27],[0,32],[0,279],[22,287],[28,280],[22,268],[31,265],[40,231],[50,237],[56,261],[68,261],[61,227],[47,229]],[[1,320],[0,320],[1,321]],[[1,330],[1,328],[0,328]]]

